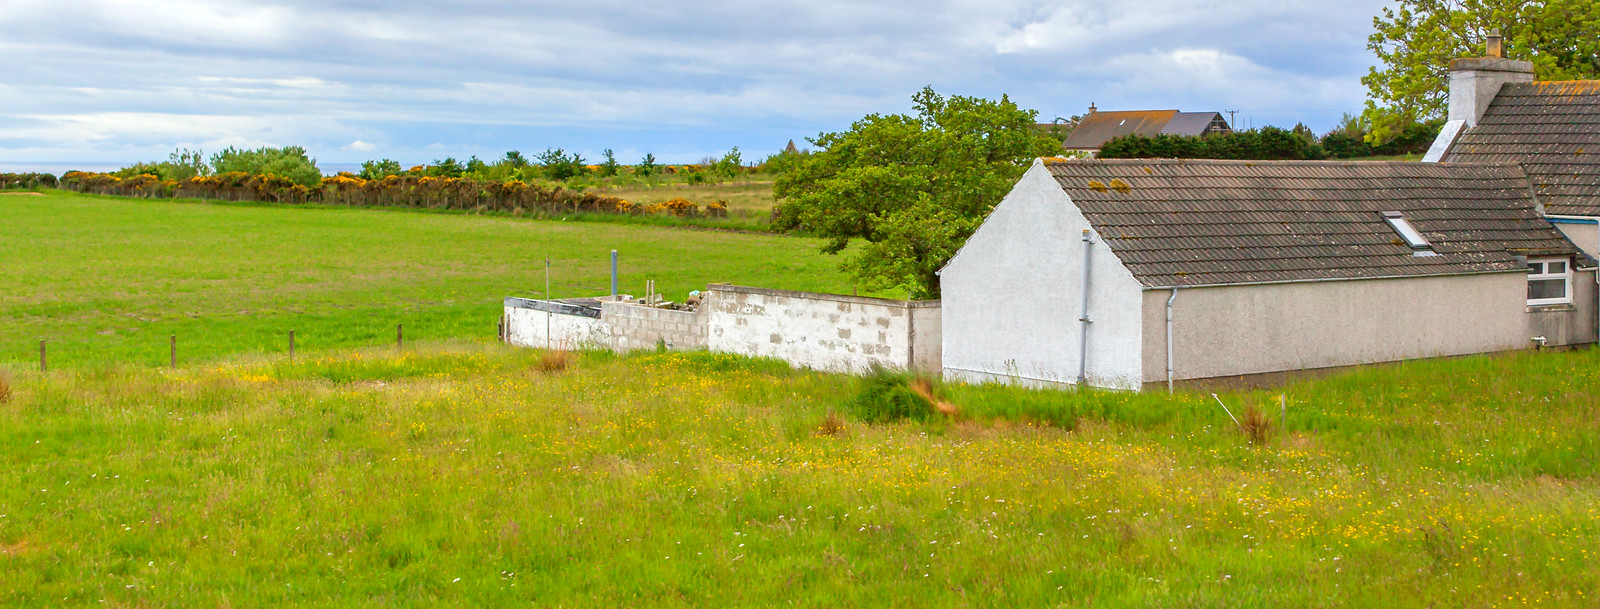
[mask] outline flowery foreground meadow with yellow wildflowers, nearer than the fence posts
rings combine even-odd
[[[0,606],[1592,607],[1600,352],[1210,395],[430,342],[13,376]]]

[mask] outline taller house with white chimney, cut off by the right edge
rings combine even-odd
[[[1520,165],[1546,217],[1600,256],[1600,80],[1534,82],[1499,46],[1450,62],[1448,123],[1424,160]]]

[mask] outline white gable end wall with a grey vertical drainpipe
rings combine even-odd
[[[1083,229],[1035,161],[941,273],[946,379],[1077,382]],[[1098,235],[1091,262],[1090,385],[1139,388],[1141,286]]]

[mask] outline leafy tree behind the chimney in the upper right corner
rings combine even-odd
[[[1600,75],[1600,3],[1594,0],[1398,0],[1373,18],[1366,38],[1366,141],[1382,144],[1406,125],[1445,115],[1451,59],[1485,54],[1490,30],[1506,56],[1531,61],[1541,80]]]

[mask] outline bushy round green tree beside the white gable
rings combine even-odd
[[[1034,128],[1010,98],[944,98],[923,88],[917,115],[872,113],[824,133],[773,187],[774,227],[822,238],[869,289],[938,297],[938,270],[982,224],[1013,182],[1061,142]]]

